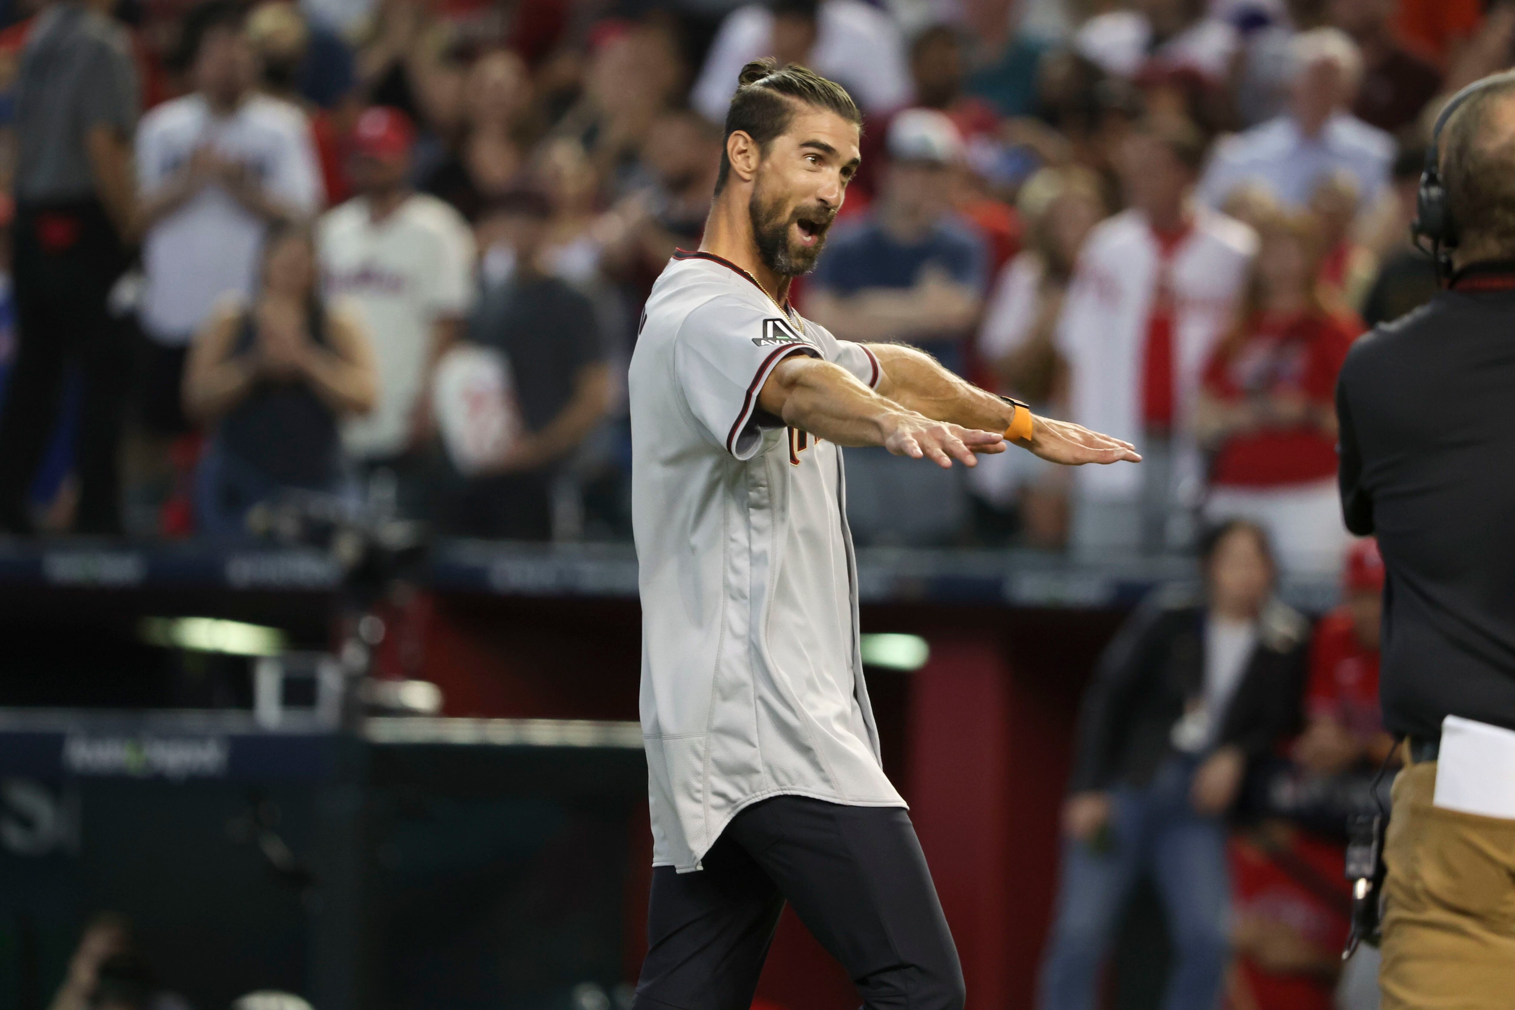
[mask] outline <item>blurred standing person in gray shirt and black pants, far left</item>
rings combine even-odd
[[[120,533],[117,447],[130,350],[108,297],[129,263],[136,71],[108,5],[55,0],[33,21],[15,88],[17,359],[0,412],[0,531],[29,533],[27,488],[77,362],[80,533]],[[126,359],[126,360],[123,360]]]

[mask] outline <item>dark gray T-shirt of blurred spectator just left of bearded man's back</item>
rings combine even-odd
[[[579,371],[604,357],[594,306],[556,277],[517,277],[485,294],[468,339],[511,360],[515,397],[532,432],[568,406]]]

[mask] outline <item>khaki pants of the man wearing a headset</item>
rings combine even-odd
[[[1436,763],[1394,780],[1383,1010],[1515,1007],[1515,821],[1432,806]]]

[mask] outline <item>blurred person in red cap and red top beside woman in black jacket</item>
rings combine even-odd
[[[1294,751],[1301,765],[1321,774],[1364,760],[1377,765],[1394,747],[1379,709],[1383,557],[1376,539],[1351,545],[1342,583],[1342,606],[1315,628],[1304,697],[1309,725]]]

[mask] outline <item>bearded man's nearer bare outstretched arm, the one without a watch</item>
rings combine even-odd
[[[933,419],[857,382],[832,362],[794,354],[779,365],[758,394],[759,409],[789,427],[838,445],[882,445],[895,456],[930,459],[938,466],[977,463],[974,453],[1003,453],[998,432]]]

